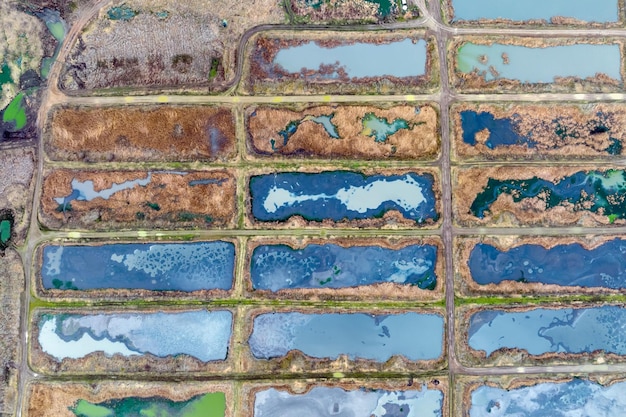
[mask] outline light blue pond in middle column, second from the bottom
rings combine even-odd
[[[249,344],[258,359],[300,350],[313,358],[433,360],[442,354],[443,330],[437,314],[267,313],[255,317]]]

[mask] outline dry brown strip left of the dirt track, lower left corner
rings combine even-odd
[[[16,415],[20,362],[20,296],[24,291],[22,259],[13,249],[0,256],[0,415]]]

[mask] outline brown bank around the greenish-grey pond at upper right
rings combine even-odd
[[[623,80],[626,78],[624,68],[621,68],[621,79],[615,80],[609,78],[605,74],[596,74],[594,77],[581,79],[578,77],[555,77],[552,83],[525,83],[519,80],[507,78],[496,78],[486,81],[483,76],[476,71],[471,73],[463,73],[457,69],[456,54],[463,44],[471,42],[477,45],[492,45],[494,43],[502,43],[507,45],[519,45],[527,47],[548,47],[560,45],[574,45],[579,43],[585,44],[617,44],[620,47],[620,54],[623,55],[624,45],[619,39],[577,39],[577,38],[534,38],[534,37],[515,37],[500,38],[497,36],[468,36],[463,38],[455,38],[448,47],[448,70],[450,73],[450,81],[458,91],[466,93],[484,93],[492,92],[546,92],[546,93],[600,93],[621,91]]]

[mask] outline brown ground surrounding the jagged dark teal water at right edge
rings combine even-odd
[[[622,170],[621,168],[615,168]],[[480,196],[485,199],[491,197],[488,185],[493,181],[516,183],[521,187],[531,187],[537,181],[547,181],[552,184],[563,184],[561,181],[573,174],[596,172],[609,174],[611,167],[590,169],[589,167],[483,167],[483,168],[456,168],[452,171],[453,182],[453,215],[455,223],[460,227],[519,227],[519,226],[608,226],[624,225],[626,213],[608,215],[604,207],[596,207],[591,201],[594,195],[581,193],[581,199],[572,203],[563,198],[552,204],[553,193],[544,188],[534,187],[537,191],[533,196],[523,197],[522,191],[515,190],[517,185],[507,186],[509,192],[500,192],[504,187],[493,190],[495,198],[482,212],[482,217],[473,213],[472,206]],[[571,178],[571,177],[570,177]],[[563,185],[565,192],[567,187]],[[494,186],[498,188],[498,186]],[[604,191],[604,190],[603,190]],[[558,199],[558,197],[556,197]],[[518,200],[518,201],[515,201]],[[620,208],[623,204],[623,195],[611,194],[605,201],[612,208]],[[551,205],[552,204],[552,205]],[[596,208],[596,212],[591,211]]]

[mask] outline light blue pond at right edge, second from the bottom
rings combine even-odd
[[[474,313],[469,322],[469,347],[490,356],[498,349],[521,349],[531,355],[548,352],[582,354],[597,350],[626,354],[626,310],[595,308],[498,309]]]

